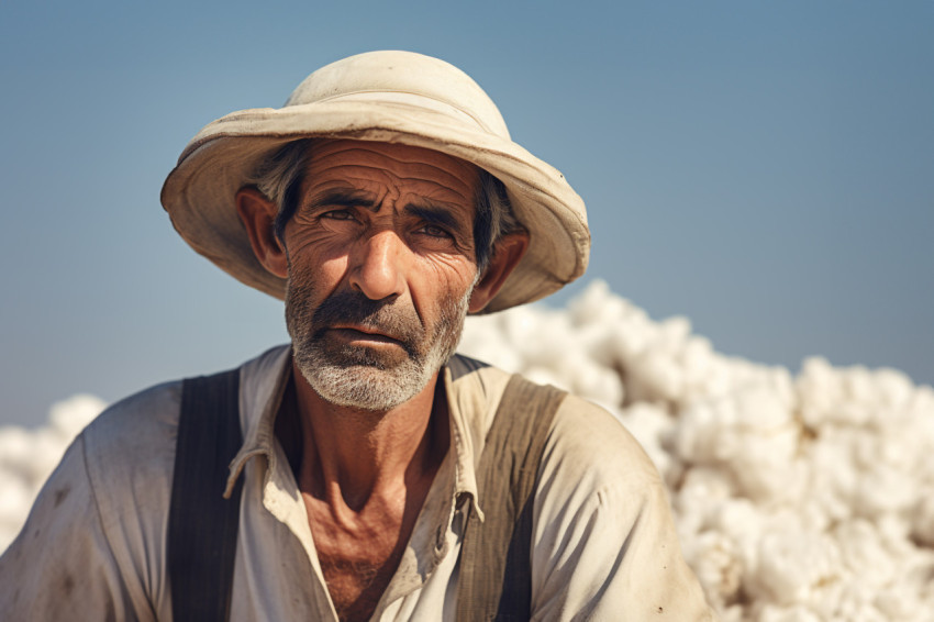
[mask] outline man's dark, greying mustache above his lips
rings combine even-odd
[[[402,344],[409,354],[418,355],[425,327],[412,307],[370,300],[358,291],[335,292],[324,299],[312,315],[312,332],[320,338],[332,326],[354,324],[388,335]]]

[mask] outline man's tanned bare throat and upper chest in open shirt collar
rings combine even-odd
[[[366,434],[309,408],[288,384],[276,435],[304,502],[324,581],[341,620],[369,620],[389,587],[451,444],[443,382]],[[346,414],[346,413],[343,413]],[[373,413],[368,413],[373,414]],[[324,443],[324,440],[334,440]]]

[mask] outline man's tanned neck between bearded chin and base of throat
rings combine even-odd
[[[299,487],[359,512],[374,496],[404,493],[434,478],[447,451],[444,382],[435,374],[408,402],[387,411],[325,401],[292,366],[301,426]]]

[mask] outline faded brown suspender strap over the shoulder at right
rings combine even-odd
[[[566,393],[513,376],[477,473],[481,523],[471,512],[460,546],[457,620],[529,620],[532,513],[538,464]]]

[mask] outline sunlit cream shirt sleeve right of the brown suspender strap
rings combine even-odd
[[[714,620],[658,471],[610,413],[569,396],[538,474],[533,620]]]

